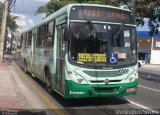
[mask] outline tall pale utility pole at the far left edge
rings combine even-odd
[[[8,0],[4,2],[4,11],[2,17],[2,26],[0,34],[0,62],[3,62],[3,50],[4,50],[4,41],[6,33],[7,14],[8,14]]]

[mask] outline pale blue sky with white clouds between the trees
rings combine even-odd
[[[4,0],[0,0],[4,2]],[[35,15],[39,6],[45,5],[50,0],[16,0],[15,5],[12,7],[12,15],[18,16],[16,22],[19,25],[18,32],[22,32],[28,27],[40,21],[45,17],[45,14]],[[138,31],[147,31],[147,19],[145,19],[145,25],[139,26]]]

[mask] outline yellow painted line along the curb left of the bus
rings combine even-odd
[[[33,87],[33,89],[40,95],[40,97],[44,100],[44,102],[51,108],[53,109],[57,115],[64,115],[64,113],[58,108],[54,103],[52,103],[52,100],[49,99],[41,90],[38,88],[36,85],[34,85],[34,82],[31,81],[25,74],[24,72],[18,67],[16,63],[14,63],[16,68],[19,70],[20,74],[22,77]]]

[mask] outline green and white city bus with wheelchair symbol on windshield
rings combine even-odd
[[[136,94],[137,33],[131,11],[69,4],[21,34],[24,70],[66,99]]]

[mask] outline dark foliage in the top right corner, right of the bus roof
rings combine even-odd
[[[160,23],[160,0],[121,0],[127,4],[137,18],[137,26],[144,25],[144,18],[149,18],[149,35],[158,34]],[[125,1],[125,2],[124,2]]]

